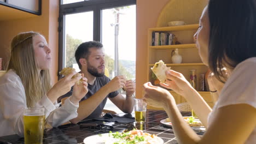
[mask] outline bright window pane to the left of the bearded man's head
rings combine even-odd
[[[93,40],[93,11],[66,15],[65,21],[65,66],[80,71],[74,52],[84,41]]]

